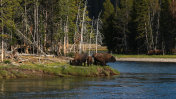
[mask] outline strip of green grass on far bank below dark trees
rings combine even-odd
[[[176,55],[122,55],[113,54],[117,58],[176,58]]]

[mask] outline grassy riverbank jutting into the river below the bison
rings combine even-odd
[[[0,79],[29,77],[99,77],[118,75],[119,72],[109,66],[70,66],[66,63],[50,64],[0,64]]]

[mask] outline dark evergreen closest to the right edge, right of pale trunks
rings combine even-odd
[[[160,14],[160,47],[165,53],[174,46],[173,30],[175,29],[172,15],[169,10],[170,0],[161,0],[161,14]]]

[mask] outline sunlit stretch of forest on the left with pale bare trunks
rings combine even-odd
[[[101,21],[89,17],[87,4],[87,0],[1,0],[2,57],[4,50],[19,48],[25,53],[64,55],[81,53],[84,44],[100,44]]]

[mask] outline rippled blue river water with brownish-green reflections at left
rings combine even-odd
[[[175,99],[176,64],[116,62],[119,76],[10,79],[0,81],[0,99]]]

